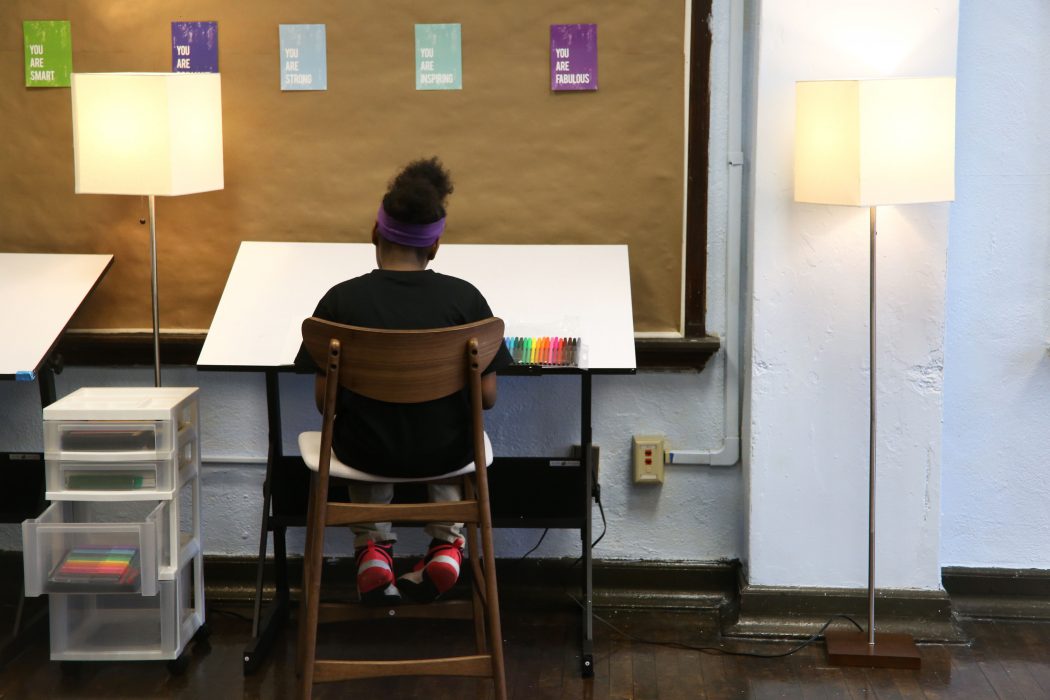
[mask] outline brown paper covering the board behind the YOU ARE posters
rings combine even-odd
[[[151,326],[145,199],[74,194],[69,90],[24,87],[22,21],[70,20],[75,72],[170,70],[170,22],[217,21],[226,189],[158,198],[163,328],[210,325],[242,240],[368,241],[387,181],[436,154],[456,184],[445,242],[628,243],[636,330],[677,330],[684,15],[627,0],[2,2],[0,250],[114,254],[72,325]],[[413,25],[443,22],[462,24],[463,89],[417,91]],[[552,93],[549,25],[575,22],[598,25],[600,90]],[[327,25],[328,91],[280,91],[281,23]]]

